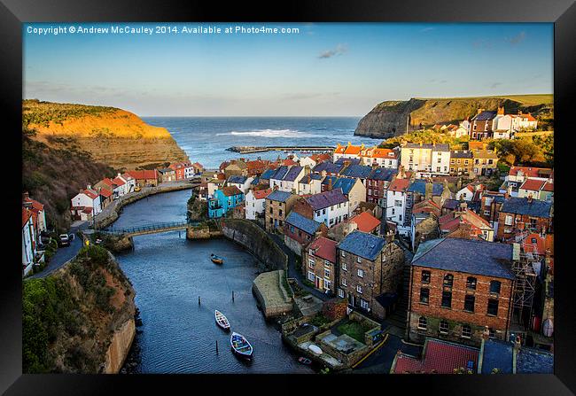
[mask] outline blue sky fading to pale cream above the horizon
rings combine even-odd
[[[25,98],[139,116],[362,116],[385,100],[553,93],[549,23],[36,23],[23,39]]]

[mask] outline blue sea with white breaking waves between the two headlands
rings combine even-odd
[[[192,162],[215,169],[227,159],[277,159],[284,151],[239,154],[232,146],[312,146],[380,144],[382,139],[354,136],[360,117],[143,117],[167,128]],[[296,152],[300,156],[300,153]],[[307,154],[302,154],[307,155]]]

